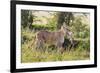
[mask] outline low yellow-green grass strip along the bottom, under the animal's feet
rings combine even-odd
[[[36,51],[34,47],[32,49],[32,48],[27,48],[27,46],[29,46],[27,43],[24,43],[22,45],[22,51],[21,51],[22,63],[89,59],[89,52],[86,50],[81,50],[81,48],[76,48],[76,50],[71,50],[71,51],[66,50],[64,51],[64,53],[60,54],[55,50],[40,52],[40,51]]]

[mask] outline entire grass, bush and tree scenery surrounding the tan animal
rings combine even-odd
[[[52,12],[21,10],[21,61],[22,63],[87,60],[90,58],[90,19],[89,13]],[[70,43],[65,45],[63,54],[56,48],[46,48],[45,52],[35,51],[29,45],[40,30],[57,31],[63,23],[73,32],[76,45],[68,51]],[[65,38],[67,39],[67,38]],[[33,48],[33,49],[32,49]]]

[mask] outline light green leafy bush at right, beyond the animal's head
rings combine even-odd
[[[89,38],[89,27],[88,24],[82,23],[82,17],[76,17],[72,24],[72,29],[74,31],[74,37],[75,38]]]

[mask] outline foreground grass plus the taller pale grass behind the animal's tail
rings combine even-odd
[[[36,51],[34,46],[28,47],[32,43],[34,32],[22,30],[22,37],[24,39],[21,45],[21,62],[32,63],[32,62],[50,62],[50,61],[72,61],[72,60],[87,60],[90,58],[90,52],[87,49],[78,45],[73,50],[65,50],[62,54],[57,52],[57,48],[47,48],[46,51]],[[34,40],[33,40],[34,41]],[[89,48],[89,47],[88,47]],[[53,49],[53,50],[52,50]]]

